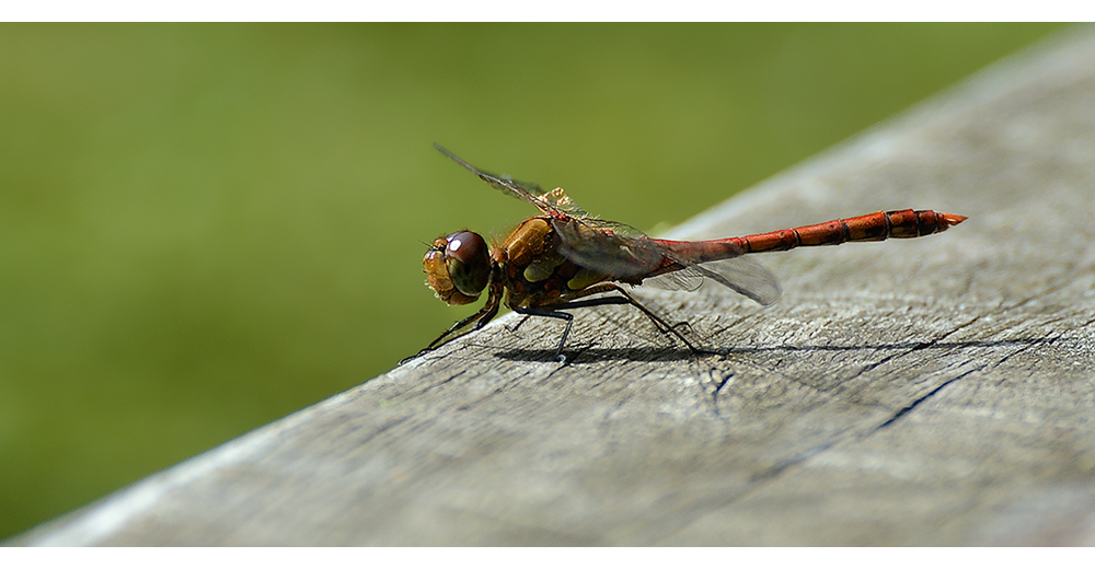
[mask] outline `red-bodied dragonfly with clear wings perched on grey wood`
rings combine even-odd
[[[590,216],[563,188],[544,191],[537,184],[492,174],[439,144],[434,147],[492,187],[535,206],[540,214],[521,222],[494,246],[466,229],[434,241],[423,258],[426,284],[434,294],[449,305],[462,305],[486,291],[486,302],[403,362],[483,328],[503,304],[525,315],[518,327],[530,316],[565,321],[554,352],[561,362],[566,361],[563,348],[574,323],[568,311],[611,304],[634,306],[664,335],[679,339],[693,353],[702,352],[678,329],[687,323],[670,325],[621,284],[694,291],[711,280],[768,305],[780,298],[780,284],[747,254],[919,237],[966,220],[954,213],[902,209],[744,237],[653,239],[630,225]]]

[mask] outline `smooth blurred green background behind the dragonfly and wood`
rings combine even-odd
[[[0,25],[0,537],[473,312],[423,243],[533,211],[434,141],[665,227],[1059,27]]]

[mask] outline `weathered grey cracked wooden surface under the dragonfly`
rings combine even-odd
[[[496,323],[14,543],[1095,545],[1095,34],[675,236],[904,207],[970,219],[762,255],[768,309],[643,293],[721,356],[607,307],[561,367],[558,323]]]

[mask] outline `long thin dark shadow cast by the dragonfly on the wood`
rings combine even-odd
[[[1034,347],[1050,344],[1048,338],[1027,338],[1010,340],[969,340],[969,341],[898,341],[858,344],[852,346],[750,346],[708,348],[694,353],[687,348],[597,348],[574,347],[564,351],[567,363],[590,363],[595,361],[646,361],[671,362],[703,359],[710,357],[728,357],[750,353],[810,353],[810,352],[854,352],[854,351],[919,351],[919,350],[965,350],[971,348],[1000,347]],[[508,349],[494,352],[494,356],[510,361],[554,361],[555,350],[551,349]]]

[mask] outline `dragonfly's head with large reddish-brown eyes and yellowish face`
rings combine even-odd
[[[422,265],[426,286],[450,305],[475,302],[491,280],[489,248],[468,230],[434,241]]]

